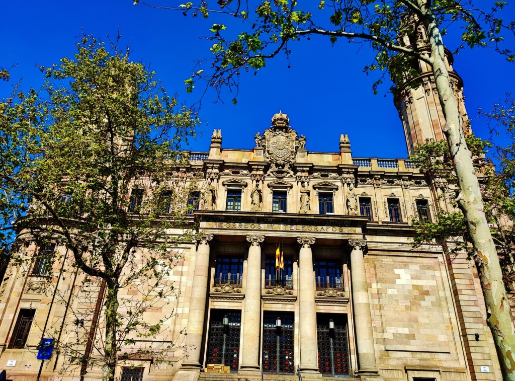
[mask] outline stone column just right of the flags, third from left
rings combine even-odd
[[[300,370],[318,373],[317,316],[315,311],[315,281],[311,245],[315,238],[298,237],[299,253],[299,333]]]

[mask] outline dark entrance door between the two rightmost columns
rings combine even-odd
[[[335,325],[334,330],[329,329],[330,319],[333,319]],[[332,348],[331,339],[333,339]],[[347,315],[317,313],[317,341],[318,370],[320,373],[334,376],[348,376],[349,344]]]

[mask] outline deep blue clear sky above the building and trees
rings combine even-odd
[[[179,0],[155,1],[181,4]],[[148,63],[167,91],[177,92],[188,105],[199,101],[203,89],[197,87],[186,95],[184,79],[191,76],[198,60],[210,57],[212,43],[199,36],[209,36],[214,22],[232,23],[228,32],[238,27],[232,20],[220,22],[213,17],[205,21],[180,12],[133,6],[131,0],[19,0],[4,2],[2,12],[0,65],[18,64],[11,70],[11,82],[23,77],[23,88],[37,88],[43,76],[35,64],[51,65],[71,57],[82,30],[101,39],[114,39],[119,30],[119,45],[129,45],[133,60]],[[504,15],[507,20],[515,19],[515,7],[506,7]],[[451,50],[456,42],[453,37],[444,37]],[[515,49],[513,45],[512,40]],[[268,128],[272,115],[282,110],[289,115],[291,126],[307,137],[310,151],[336,152],[340,134],[347,133],[355,157],[406,157],[402,125],[392,95],[387,93],[390,85],[374,95],[371,86],[379,73],[363,73],[373,58],[366,46],[342,40],[331,47],[328,39],[314,37],[293,47],[289,62],[278,57],[257,76],[242,75],[237,105],[231,103],[233,94],[222,93],[223,102],[215,102],[213,92],[204,95],[200,108],[204,134],[192,143],[192,150],[207,151],[214,128],[222,130],[223,147],[251,148],[255,132]],[[515,84],[515,65],[491,49],[466,49],[455,57],[454,69],[464,80],[472,118],[479,107],[491,109]],[[11,86],[0,83],[0,97],[7,96]],[[472,129],[488,138],[485,122],[473,120]]]

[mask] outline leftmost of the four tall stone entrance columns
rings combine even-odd
[[[212,234],[206,234],[198,240],[197,260],[193,271],[192,296],[186,326],[185,341],[188,354],[186,360],[182,362],[181,369],[199,370],[202,368],[200,349],[204,328],[205,299],[208,294],[209,241],[212,239]]]

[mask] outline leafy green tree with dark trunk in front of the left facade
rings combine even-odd
[[[57,344],[72,362],[100,364],[103,378],[114,380],[118,361],[173,346],[136,340],[161,332],[167,316],[151,321],[147,312],[174,293],[176,247],[192,239],[186,197],[194,181],[171,180],[169,171],[187,160],[182,147],[198,119],[185,106],[176,111],[155,73],[113,43],[84,36],[73,58],[40,70],[41,90],[16,88],[0,103],[0,250],[19,269],[37,262],[39,273],[99,280],[104,323],[83,328],[92,329],[96,352]],[[30,241],[35,256],[24,254]],[[61,266],[59,246],[71,253],[71,269]],[[121,297],[124,288],[135,296]]]

